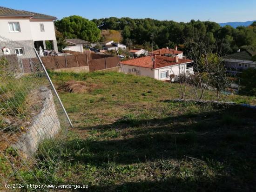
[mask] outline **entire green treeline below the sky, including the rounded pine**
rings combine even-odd
[[[188,23],[128,17],[87,20],[73,15],[55,21],[55,26],[66,38],[80,38],[91,42],[103,41],[109,32],[112,33],[110,35],[118,37],[118,34],[114,33],[116,31],[121,33],[121,41],[132,48],[142,46],[151,49],[154,34],[155,49],[178,45],[179,49],[185,50],[188,48],[186,42],[207,39],[211,50],[221,47],[223,54],[233,53],[238,48],[256,51],[256,22],[248,27],[233,28],[200,20],[191,20]]]

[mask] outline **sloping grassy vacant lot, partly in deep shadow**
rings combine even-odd
[[[255,111],[175,103],[168,99],[179,97],[177,84],[133,75],[51,76],[75,126],[57,173],[62,182],[108,192],[256,190]],[[71,79],[85,92],[67,93]]]

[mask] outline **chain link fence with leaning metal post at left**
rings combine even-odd
[[[6,184],[54,184],[72,125],[34,47],[0,36],[0,48],[0,191],[15,191]]]

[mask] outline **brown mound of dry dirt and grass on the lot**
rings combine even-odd
[[[95,84],[88,85],[83,81],[70,80],[60,86],[59,89],[68,93],[85,93],[91,92],[95,87]]]

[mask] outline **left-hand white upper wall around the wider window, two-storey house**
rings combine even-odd
[[[10,32],[9,22],[19,22],[20,32]],[[13,41],[33,40],[29,18],[0,18],[0,35]]]

